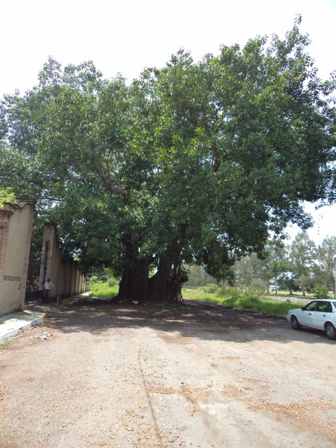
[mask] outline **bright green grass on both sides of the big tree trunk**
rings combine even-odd
[[[299,308],[304,303],[281,302],[280,300],[265,299],[257,294],[244,294],[230,288],[224,293],[205,293],[201,289],[183,289],[183,297],[188,299],[204,300],[204,302],[223,305],[224,307],[235,307],[249,309],[265,314],[279,314],[286,316],[288,309]],[[97,281],[91,283],[90,297],[101,297],[111,299],[118,294],[118,283]]]

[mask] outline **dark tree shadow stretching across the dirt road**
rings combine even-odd
[[[45,326],[64,333],[91,332],[99,334],[110,329],[151,328],[186,338],[225,342],[269,340],[280,343],[300,341],[307,344],[335,344],[324,332],[304,329],[294,331],[283,318],[186,300],[185,307],[164,309],[152,304],[114,304],[84,302],[83,304],[31,304],[29,309],[45,311]],[[173,341],[172,341],[173,342]],[[188,343],[186,341],[186,343]]]

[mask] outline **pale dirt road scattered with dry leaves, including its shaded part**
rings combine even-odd
[[[195,301],[57,311],[0,347],[0,446],[335,447],[335,349]]]

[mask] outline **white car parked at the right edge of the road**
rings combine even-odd
[[[305,307],[290,309],[287,320],[294,330],[316,328],[324,330],[329,339],[336,339],[336,300],[313,300]]]

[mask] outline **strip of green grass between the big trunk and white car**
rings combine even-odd
[[[202,290],[186,289],[183,290],[183,297],[204,300],[204,302],[216,303],[224,307],[248,309],[281,316],[286,316],[289,309],[300,308],[304,305],[303,303],[265,299],[256,294],[239,293],[237,290],[229,290],[228,293],[204,293]]]

